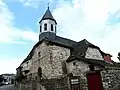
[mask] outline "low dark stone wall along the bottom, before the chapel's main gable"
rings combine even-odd
[[[20,83],[17,90],[69,90],[66,79],[31,80]]]

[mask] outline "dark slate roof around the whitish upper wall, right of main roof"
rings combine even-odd
[[[68,58],[67,62],[71,62],[73,60],[82,60],[86,63],[96,64],[96,65],[100,65],[103,67],[104,66],[116,66],[115,64],[112,65],[110,63],[105,62],[104,60],[85,58],[86,51],[89,47],[98,49],[100,53],[102,54],[102,56],[107,55],[107,53],[104,53],[103,51],[101,51],[98,46],[88,42],[86,39],[79,41],[78,43],[74,44],[72,47],[73,47],[73,49],[71,50],[72,53],[70,57]]]

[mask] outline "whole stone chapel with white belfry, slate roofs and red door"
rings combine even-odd
[[[16,69],[18,90],[120,90],[120,64],[86,39],[57,36],[49,7],[39,41]]]

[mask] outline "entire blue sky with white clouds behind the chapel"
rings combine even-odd
[[[118,61],[120,0],[0,0],[0,74],[16,73],[38,42],[38,22],[48,2],[57,35],[87,39]]]

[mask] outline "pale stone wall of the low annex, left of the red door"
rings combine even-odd
[[[101,70],[100,66],[95,66],[95,70]],[[68,63],[68,73],[72,73],[73,76],[79,76],[80,78],[80,90],[88,90],[88,83],[87,83],[87,72],[90,71],[89,64],[74,60]]]

